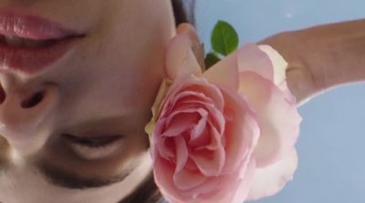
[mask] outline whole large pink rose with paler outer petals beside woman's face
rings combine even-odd
[[[276,194],[297,168],[301,117],[285,60],[249,44],[202,73],[186,34],[146,127],[156,184],[170,203],[242,203]]]

